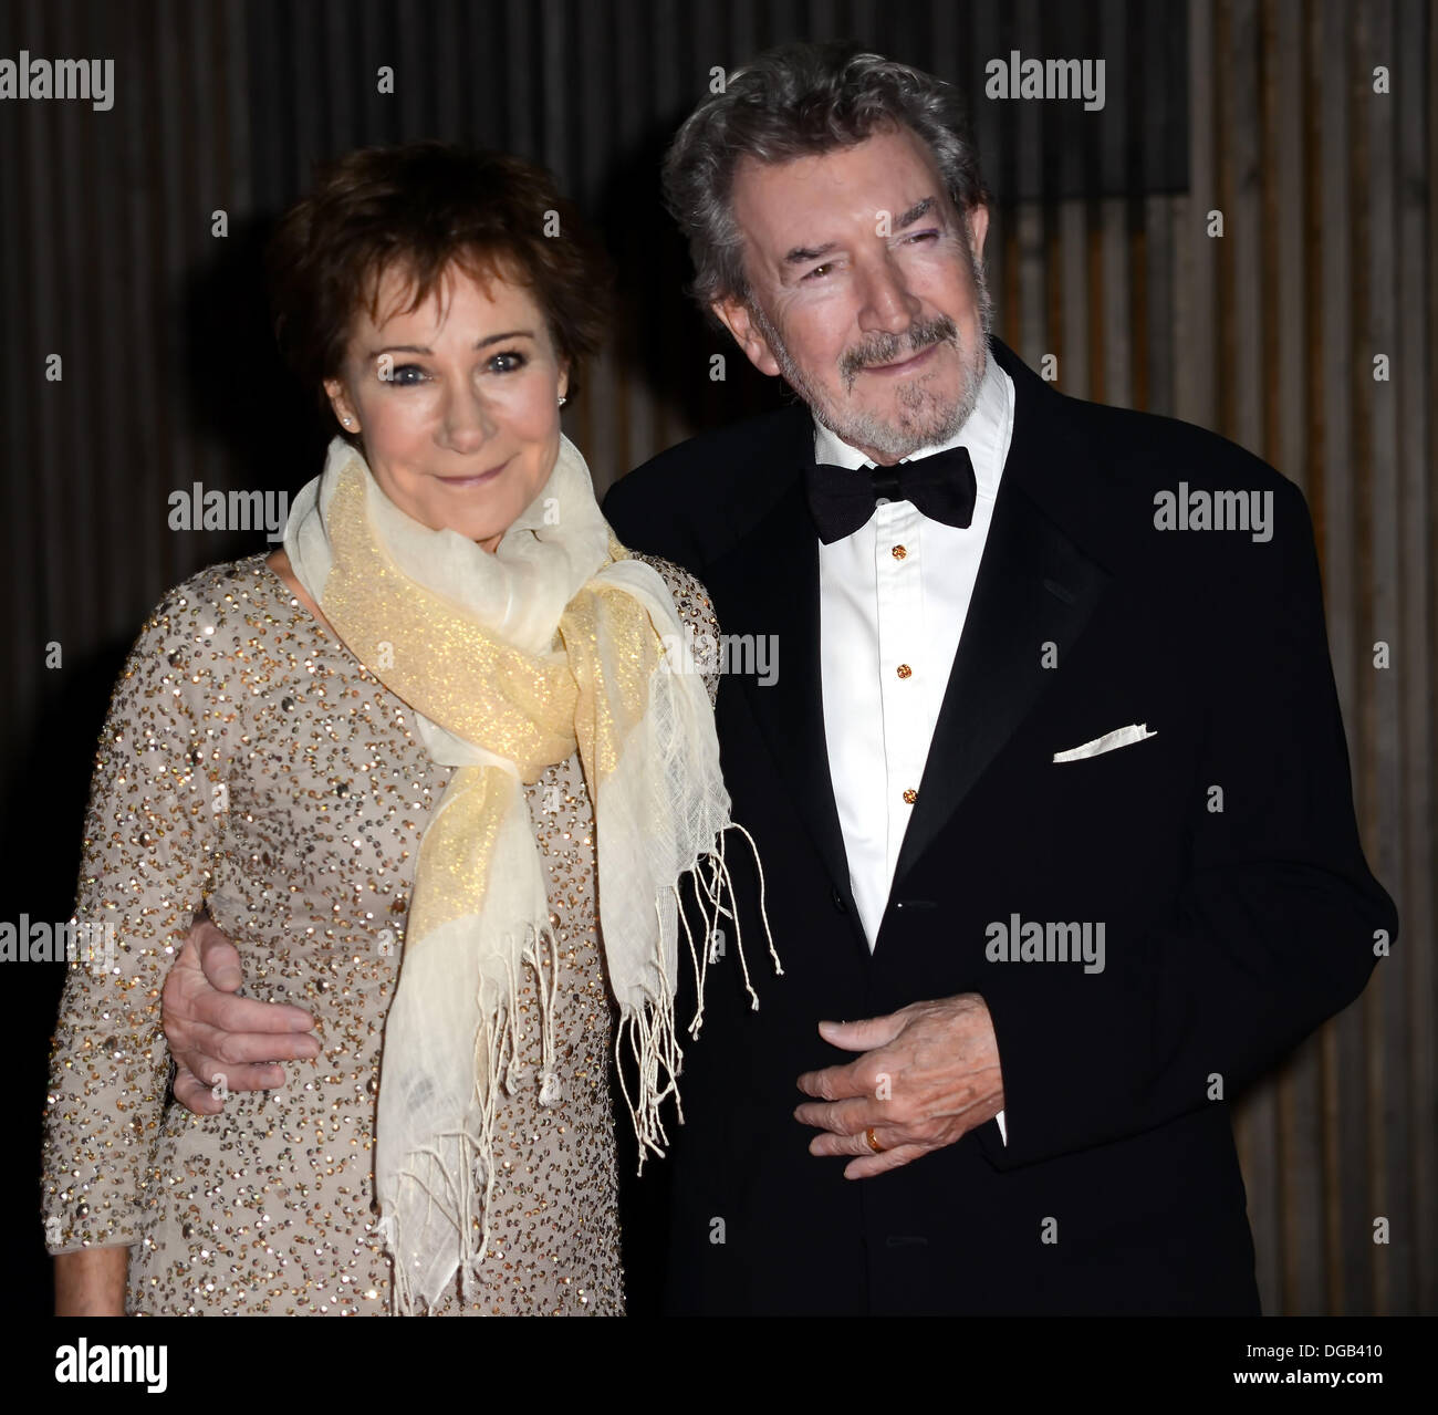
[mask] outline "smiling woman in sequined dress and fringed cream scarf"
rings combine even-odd
[[[657,1149],[677,884],[712,928],[729,820],[666,657],[716,631],[703,587],[614,541],[559,431],[597,259],[546,174],[439,144],[285,217],[278,328],[341,434],[283,551],[171,591],[111,705],[76,917],[116,958],[70,969],[46,1126],[62,1313],[623,1311],[610,992]],[[158,1001],[201,903],[324,1051],[194,1117]]]

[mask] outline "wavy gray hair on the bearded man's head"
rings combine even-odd
[[[785,45],[732,73],[700,104],[664,155],[664,204],[689,239],[689,292],[749,303],[743,233],[733,216],[741,158],[785,162],[850,147],[900,124],[928,144],[961,213],[988,201],[953,88],[922,69],[864,53],[853,40]]]

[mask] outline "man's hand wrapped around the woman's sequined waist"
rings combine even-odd
[[[230,997],[243,981],[234,945],[201,919],[186,935],[161,995],[175,1100],[197,1116],[219,1114],[224,1091],[283,1086],[276,1061],[319,1055],[319,1038],[309,1032],[315,1022],[303,1008]]]

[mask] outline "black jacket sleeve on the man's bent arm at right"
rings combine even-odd
[[[1094,1015],[1070,994],[985,988],[1008,1145],[988,1125],[978,1139],[998,1169],[1232,1100],[1357,997],[1396,938],[1357,838],[1307,506],[1278,486],[1273,544],[1211,601],[1231,608],[1199,779],[1224,785],[1224,810],[1199,804],[1191,869],[1127,995]]]

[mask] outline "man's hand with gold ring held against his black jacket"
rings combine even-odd
[[[846,1179],[867,1179],[952,1145],[1004,1109],[998,1040],[976,992],[936,1002],[912,1002],[863,1022],[820,1022],[820,1035],[864,1055],[847,1066],[805,1071],[801,1125],[824,1133],[811,1155],[857,1155]],[[884,1148],[876,1155],[866,1132]]]

